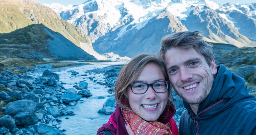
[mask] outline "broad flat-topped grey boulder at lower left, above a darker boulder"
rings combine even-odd
[[[5,108],[5,114],[15,116],[20,112],[34,113],[36,103],[32,100],[17,100],[9,102]]]

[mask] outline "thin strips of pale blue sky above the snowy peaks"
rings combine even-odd
[[[50,4],[50,3],[60,3],[64,6],[67,6],[68,4],[73,4],[73,5],[79,5],[84,3],[87,0],[36,0],[38,3],[46,3],[46,4]],[[192,1],[192,0],[187,0],[187,1]],[[237,2],[241,3],[241,4],[248,4],[248,3],[252,3],[252,2],[256,2],[255,0],[211,0],[215,3],[218,4],[226,4],[226,3],[231,3],[231,4],[235,4]]]

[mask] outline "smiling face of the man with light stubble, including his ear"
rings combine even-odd
[[[207,64],[194,48],[171,48],[165,54],[170,82],[175,92],[189,104],[200,104],[209,94],[217,73],[214,59]]]

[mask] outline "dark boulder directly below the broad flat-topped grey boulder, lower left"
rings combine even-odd
[[[35,114],[20,112],[13,117],[16,125],[29,126],[38,122],[38,118]]]

